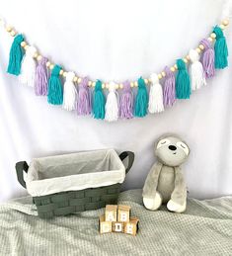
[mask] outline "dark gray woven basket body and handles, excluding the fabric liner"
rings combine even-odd
[[[128,173],[134,161],[134,153],[124,151],[119,155],[120,161],[128,157],[128,166],[125,173]],[[26,161],[16,164],[17,177],[20,184],[27,188],[24,180],[24,172],[28,173],[29,165]],[[80,213],[88,210],[97,210],[106,205],[117,203],[120,191],[120,183],[98,188],[87,188],[84,190],[65,191],[49,195],[33,197],[37,206],[39,217],[51,218],[53,216]]]

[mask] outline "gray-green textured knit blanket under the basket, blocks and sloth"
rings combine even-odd
[[[149,212],[141,190],[123,192],[119,204],[139,217],[135,237],[98,231],[104,210],[40,219],[32,198],[0,206],[0,255],[232,255],[232,197],[188,201],[186,213]]]

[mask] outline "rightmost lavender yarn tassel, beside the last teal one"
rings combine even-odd
[[[204,39],[200,42],[204,46],[204,51],[201,55],[200,62],[203,66],[205,78],[211,78],[215,74],[215,52],[208,40]]]

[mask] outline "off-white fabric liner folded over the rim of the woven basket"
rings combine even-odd
[[[125,167],[114,149],[35,158],[25,178],[33,197],[122,183]]]

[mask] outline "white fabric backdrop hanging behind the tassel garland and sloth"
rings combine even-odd
[[[39,50],[68,70],[109,80],[159,72],[186,54],[220,21],[223,0],[66,0],[1,3],[1,14]],[[232,30],[226,32],[232,52]],[[109,124],[50,106],[5,73],[12,39],[0,32],[0,201],[26,193],[19,160],[113,147],[135,152],[124,188],[140,188],[164,132],[192,148],[185,165],[190,196],[232,193],[232,72],[218,71],[190,101],[164,114]],[[230,58],[231,60],[231,58]]]

